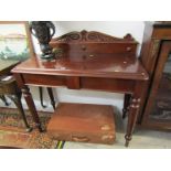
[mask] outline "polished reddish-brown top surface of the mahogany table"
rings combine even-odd
[[[86,58],[77,54],[75,58],[63,56],[51,62],[33,56],[15,66],[12,73],[148,79],[148,74],[138,58],[120,54],[93,54]]]

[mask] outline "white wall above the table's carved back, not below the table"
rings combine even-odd
[[[125,36],[131,33],[132,36],[140,43],[142,42],[145,23],[138,22],[119,22],[119,21],[54,21],[56,33],[54,36],[60,36],[71,31],[99,31],[114,36]],[[38,40],[33,38],[35,51],[40,53]]]

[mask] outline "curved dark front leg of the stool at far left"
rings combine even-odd
[[[22,104],[21,104],[21,95],[9,95],[9,98],[15,104],[15,106],[19,109],[19,113],[24,121],[24,125],[26,127],[26,131],[30,132],[32,130],[32,128],[29,126]]]

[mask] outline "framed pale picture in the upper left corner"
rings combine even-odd
[[[0,21],[0,60],[25,61],[34,55],[26,21]]]

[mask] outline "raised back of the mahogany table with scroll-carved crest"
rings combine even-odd
[[[127,34],[122,39],[96,31],[70,32],[51,41],[54,50],[62,50],[64,56],[77,58],[94,54],[121,54],[135,58],[138,42]],[[120,56],[120,55],[119,55]]]

